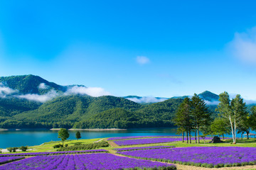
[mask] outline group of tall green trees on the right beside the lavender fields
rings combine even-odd
[[[195,132],[195,140],[198,143],[200,142],[200,132],[204,136],[222,135],[223,139],[224,135],[232,134],[234,144],[237,132],[241,133],[241,138],[246,132],[247,139],[249,139],[250,130],[256,130],[256,106],[252,106],[251,113],[249,113],[239,94],[230,100],[226,91],[219,95],[218,101],[218,106],[215,109],[218,115],[213,118],[205,101],[197,94],[194,94],[192,98],[184,98],[174,115],[174,123],[178,126],[178,132],[181,132],[183,141],[185,133],[186,141],[189,140],[191,143],[192,132]]]

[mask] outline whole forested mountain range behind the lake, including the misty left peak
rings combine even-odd
[[[0,128],[171,127],[184,98],[92,97],[67,93],[72,87],[33,75],[0,77]],[[218,98],[210,91],[199,96],[210,102]],[[215,106],[210,108],[214,112]]]

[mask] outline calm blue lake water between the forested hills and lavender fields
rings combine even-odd
[[[75,131],[69,131],[68,140],[75,140]],[[175,128],[154,128],[113,131],[80,131],[81,139],[124,136],[176,135]],[[58,141],[58,131],[19,130],[0,132],[0,148],[41,145],[44,142]]]

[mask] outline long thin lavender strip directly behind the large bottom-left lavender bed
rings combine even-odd
[[[31,153],[20,153],[20,154],[0,154],[1,157],[14,157],[14,156],[38,156],[38,155],[50,155],[50,154],[82,154],[82,153],[93,153],[93,152],[108,152],[105,149],[94,149],[94,150],[82,150],[82,151],[61,151],[61,152],[31,152]]]

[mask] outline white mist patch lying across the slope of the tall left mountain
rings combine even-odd
[[[16,95],[17,98],[25,98],[30,101],[39,101],[39,102],[46,102],[50,101],[52,98],[55,98],[59,94],[55,90],[49,91],[47,94],[39,95],[39,94],[23,94],[23,95]]]

